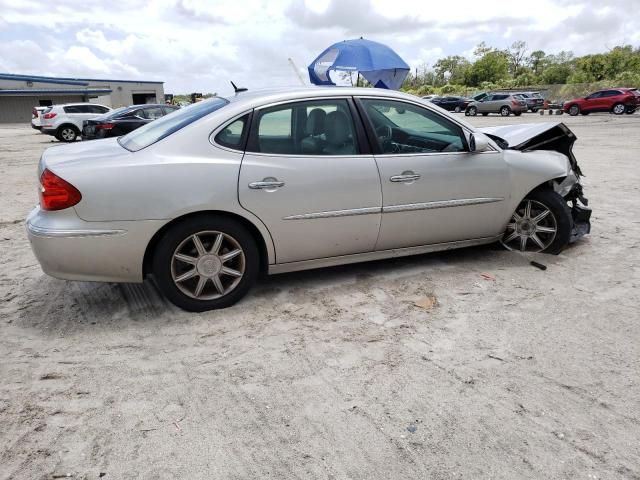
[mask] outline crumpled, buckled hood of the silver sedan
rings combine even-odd
[[[573,156],[575,134],[562,122],[525,123],[499,127],[478,128],[482,133],[494,135],[506,140],[509,149],[520,151],[550,150],[565,155],[571,162],[571,168],[582,175],[576,158]]]

